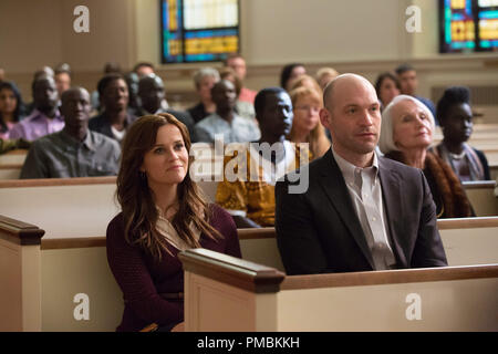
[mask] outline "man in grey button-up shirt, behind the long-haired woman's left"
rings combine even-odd
[[[89,129],[90,94],[85,88],[64,91],[61,132],[37,139],[25,158],[21,178],[69,178],[117,175],[120,144]]]

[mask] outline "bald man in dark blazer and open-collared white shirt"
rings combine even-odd
[[[323,93],[321,123],[331,149],[276,186],[276,230],[288,274],[447,266],[430,189],[419,169],[377,156],[375,88],[343,74]],[[292,177],[292,178],[291,178]]]

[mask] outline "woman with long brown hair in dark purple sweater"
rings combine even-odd
[[[189,149],[186,126],[167,113],[141,117],[125,136],[116,190],[122,212],[107,227],[107,261],[125,301],[117,331],[151,323],[183,329],[180,251],[241,257],[231,216],[207,204],[189,176]]]

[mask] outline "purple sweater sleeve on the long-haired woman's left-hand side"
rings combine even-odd
[[[169,302],[158,295],[143,253],[125,240],[121,215],[107,227],[107,261],[127,306],[137,317],[158,324],[183,321],[183,302]]]

